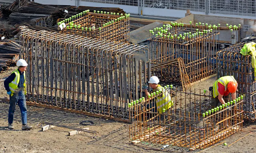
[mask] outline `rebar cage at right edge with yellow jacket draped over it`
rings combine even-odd
[[[238,93],[246,95],[243,110],[244,119],[256,120],[256,80],[252,67],[252,55],[243,56],[240,50],[244,44],[252,40],[242,40],[240,43],[224,48],[217,52],[217,77],[232,75],[238,83]]]

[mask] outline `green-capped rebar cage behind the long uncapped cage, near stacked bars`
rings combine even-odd
[[[91,13],[88,10],[58,22],[61,33],[130,43],[130,14]]]

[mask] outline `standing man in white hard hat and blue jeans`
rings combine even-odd
[[[18,69],[5,79],[4,87],[7,94],[10,96],[10,107],[8,114],[8,129],[14,129],[13,117],[16,104],[19,105],[22,116],[22,130],[30,130],[32,126],[27,124],[27,105],[26,105],[26,77],[25,71],[27,69],[27,62],[23,59],[17,61]]]

